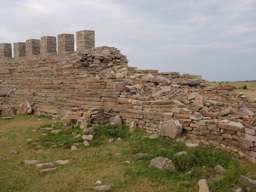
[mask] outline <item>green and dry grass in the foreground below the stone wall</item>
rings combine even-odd
[[[52,124],[55,124],[54,129],[62,131],[42,136],[40,128]],[[0,191],[82,191],[95,186],[97,180],[103,185],[111,184],[111,191],[198,191],[197,182],[204,178],[211,191],[228,191],[238,184],[240,175],[256,172],[255,166],[241,163],[239,157],[218,148],[203,145],[188,148],[182,142],[163,137],[141,139],[142,131],[131,134],[126,126],[97,126],[90,146],[79,145],[78,150],[71,151],[70,145],[82,140],[65,141],[74,138],[72,133],[81,134],[82,130],[71,124],[68,127],[69,130],[65,129],[61,122],[55,123],[49,117],[17,115],[10,120],[0,119]],[[117,140],[118,137],[121,140]],[[33,141],[27,142],[28,138]],[[33,144],[38,142],[36,138],[40,138],[38,145],[43,147]],[[109,138],[114,138],[115,142],[109,143]],[[57,147],[52,147],[56,143]],[[11,155],[12,150],[18,154]],[[187,155],[175,156],[182,151]],[[122,155],[115,155],[117,153]],[[136,153],[150,155],[138,158],[133,156]],[[172,159],[176,170],[148,167],[158,156]],[[56,165],[54,172],[40,174],[35,165],[23,163],[26,159],[42,163],[69,159],[70,163]],[[216,176],[216,165],[225,167],[227,173],[222,178],[210,179]]]

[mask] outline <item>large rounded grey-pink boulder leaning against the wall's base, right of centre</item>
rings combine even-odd
[[[161,121],[159,125],[159,135],[172,139],[179,137],[182,133],[182,124],[177,119]]]

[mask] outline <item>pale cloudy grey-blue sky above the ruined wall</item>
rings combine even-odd
[[[130,67],[256,79],[255,0],[0,0],[0,42],[95,30]],[[13,45],[12,45],[13,47]]]

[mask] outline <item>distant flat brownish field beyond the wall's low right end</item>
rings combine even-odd
[[[229,84],[230,86],[235,87],[237,93],[244,93],[249,99],[256,99],[256,82],[224,82],[221,83],[222,86]],[[216,86],[219,86],[219,82],[216,83]],[[247,89],[243,89],[243,86],[247,86]]]

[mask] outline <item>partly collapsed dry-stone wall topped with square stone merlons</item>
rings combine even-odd
[[[2,108],[17,109],[27,100],[36,114],[59,115],[81,127],[120,115],[148,133],[158,133],[160,122],[175,118],[193,140],[256,157],[256,100],[217,88],[200,75],[129,67],[116,48],[94,48],[94,31],[88,33],[77,32],[79,51],[73,51],[72,34],[58,35],[58,52],[56,37],[49,36],[15,43],[14,58],[10,46],[0,44],[1,94],[13,91]],[[218,101],[208,91],[230,100]]]

